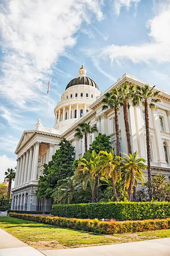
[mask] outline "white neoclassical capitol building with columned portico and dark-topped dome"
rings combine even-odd
[[[136,77],[125,73],[106,92],[124,82],[145,85]],[[167,180],[170,180],[170,94],[158,88],[157,90],[160,91],[161,102],[156,104],[156,110],[149,110],[152,174],[165,174]],[[86,77],[86,69],[82,65],[79,76],[69,82],[61,95],[61,102],[54,109],[54,127],[43,127],[38,119],[35,129],[23,132],[15,150],[17,167],[11,210],[51,210],[50,199],[36,197],[38,179],[43,174],[43,164],[51,161],[62,138],[69,140],[75,147],[75,159],[83,156],[84,139],[74,137],[79,123],[90,122],[98,129],[97,133],[89,134],[88,148],[98,133],[109,135],[112,147],[116,148],[114,110],[102,110],[104,93],[99,92],[97,84]],[[142,104],[137,107],[131,105],[128,115],[132,151],[139,152],[147,160],[144,107]],[[119,110],[119,134],[121,152],[128,152],[122,108]],[[145,177],[147,178],[147,171]]]

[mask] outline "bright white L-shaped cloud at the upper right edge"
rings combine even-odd
[[[166,8],[165,8],[166,6]],[[137,62],[170,62],[170,2],[161,5],[159,13],[147,23],[150,28],[150,43],[138,46],[109,45],[94,55],[98,59],[110,59],[117,63],[124,60]]]

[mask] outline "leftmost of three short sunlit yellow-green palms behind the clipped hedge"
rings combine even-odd
[[[99,186],[99,168],[100,156],[96,154],[93,150],[92,153],[89,153],[89,157],[87,159],[81,158],[78,161],[78,167],[74,174],[74,182],[78,182],[82,180],[82,188],[86,190],[87,185],[90,185],[91,188],[91,199],[92,202],[97,202],[97,188]]]

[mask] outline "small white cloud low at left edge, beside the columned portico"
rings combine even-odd
[[[0,182],[4,181],[4,174],[8,168],[15,168],[17,161],[6,155],[0,156]]]

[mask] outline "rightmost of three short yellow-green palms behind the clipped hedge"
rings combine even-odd
[[[123,153],[124,154],[124,153]],[[143,185],[143,179],[145,179],[142,169],[147,169],[145,159],[142,157],[137,158],[137,151],[133,154],[124,154],[126,157],[122,157],[122,163],[124,165],[125,180],[128,186],[128,200],[130,200],[132,188],[137,187],[138,180]]]

